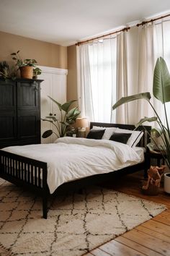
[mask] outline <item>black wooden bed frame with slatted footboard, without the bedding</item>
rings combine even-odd
[[[90,128],[93,126],[98,127],[119,127],[121,129],[135,129],[134,125],[129,124],[105,124],[91,122]],[[151,127],[138,127],[138,130],[143,130],[144,135],[140,140],[141,147],[145,147],[149,142],[149,135],[151,134]],[[131,174],[135,171],[146,170],[148,169],[148,158],[145,158],[143,163],[138,163],[134,166],[128,166],[122,168],[118,171],[112,171],[108,174],[96,174],[93,176],[88,176],[83,179],[79,179],[72,182],[67,182],[59,186],[53,195],[57,192],[60,192],[63,189],[66,190],[78,190],[87,185],[97,184],[105,182],[113,178],[113,176],[120,176],[124,174]],[[48,163],[37,161],[32,158],[26,158],[21,155],[15,155],[13,153],[8,153],[3,150],[0,150],[0,177],[5,179],[12,184],[17,186],[22,186],[24,189],[29,189],[40,195],[42,197],[42,216],[43,218],[48,217],[48,197],[50,196],[50,191],[47,184],[48,176]]]

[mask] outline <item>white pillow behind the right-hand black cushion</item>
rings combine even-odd
[[[143,131],[133,131],[130,129],[117,128],[115,132],[132,133],[132,135],[128,139],[128,142],[126,143],[130,147],[135,147],[138,142],[140,142],[141,137],[143,137]]]

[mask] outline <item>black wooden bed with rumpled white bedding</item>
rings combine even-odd
[[[91,122],[90,129],[93,128],[99,129],[102,131],[102,129],[107,130],[107,132],[112,131],[112,129],[120,129],[122,130],[130,130],[132,131],[135,129],[134,125],[129,124],[106,124],[106,123],[97,123],[97,122]],[[112,129],[110,129],[112,127]],[[127,158],[127,154],[130,151],[130,147],[128,145],[123,145],[120,142],[111,142],[110,140],[88,140],[88,139],[80,139],[80,138],[60,138],[56,141],[53,145],[51,145],[51,153],[50,152],[50,145],[27,145],[27,146],[19,146],[16,147],[17,151],[14,150],[15,147],[8,147],[5,149],[0,150],[0,177],[2,179],[5,179],[8,182],[12,182],[13,184],[16,184],[17,186],[23,186],[24,189],[30,189],[33,192],[36,193],[36,195],[40,195],[42,197],[42,217],[47,218],[48,217],[48,197],[50,195],[55,195],[56,193],[59,193],[63,190],[78,190],[83,187],[86,187],[89,184],[97,184],[100,182],[104,182],[107,179],[113,179],[114,176],[120,176],[124,174],[130,174],[135,171],[144,170],[146,175],[146,170],[148,169],[148,158],[146,157],[147,154],[143,153],[144,157],[141,161],[138,159],[138,151],[145,150],[146,145],[149,142],[149,135],[151,134],[151,127],[145,126],[145,127],[138,127],[138,130],[141,131],[140,134],[140,142],[138,142],[138,147],[135,147],[135,150],[133,151],[133,157],[131,161],[130,159],[125,160],[124,158]],[[91,131],[92,132],[92,131]],[[99,133],[99,132],[97,132]],[[105,134],[105,133],[104,133]],[[115,134],[115,132],[114,132]],[[104,135],[103,135],[104,136]],[[122,137],[122,134],[120,133],[120,136]],[[66,144],[67,143],[67,144]],[[76,145],[78,143],[78,145]],[[82,145],[83,143],[83,145]],[[85,144],[84,144],[85,143]],[[70,145],[68,145],[70,144]],[[59,179],[59,175],[53,170],[53,168],[50,166],[50,164],[53,165],[52,161],[50,163],[50,159],[52,159],[52,155],[55,153],[54,147],[63,147],[63,150],[66,150],[66,148],[69,149],[71,147],[71,151],[66,156],[66,159],[68,160],[66,162],[66,166],[62,166],[62,158],[60,157],[60,154],[58,153],[58,161],[55,161],[55,168],[58,168],[58,171],[61,171],[63,173],[63,178]],[[24,148],[22,148],[24,147]],[[29,148],[29,153],[27,150],[27,147]],[[32,152],[30,153],[30,147],[32,147]],[[61,148],[62,148],[61,147]],[[76,148],[74,148],[76,147]],[[42,158],[42,151],[41,149],[45,148],[45,158]],[[79,148],[82,148],[82,154],[79,155]],[[89,153],[89,148],[91,148],[91,152]],[[121,162],[121,166],[117,166],[114,161],[112,161],[112,155],[110,155],[112,148],[114,148],[114,154],[117,155],[119,158],[117,161]],[[40,152],[39,152],[40,149]],[[98,151],[97,151],[98,150]],[[104,150],[104,151],[102,151]],[[126,151],[125,151],[126,150]],[[36,155],[37,152],[37,155]],[[38,155],[39,152],[39,155]],[[87,152],[87,155],[86,155]],[[101,168],[102,162],[101,159],[104,158],[104,154],[109,153],[108,156],[106,156],[107,163],[106,166],[109,166],[104,171],[104,168]],[[71,160],[69,159],[69,154],[71,155],[71,159],[74,159],[71,163]],[[89,155],[88,155],[89,154]],[[101,155],[100,155],[101,154]],[[51,155],[51,158],[50,158]],[[76,155],[76,158],[75,158]],[[84,161],[84,157],[85,161]],[[122,155],[122,156],[121,156]],[[54,155],[55,156],[55,155]],[[120,158],[120,156],[122,158]],[[91,167],[88,158],[90,158],[90,161],[93,165],[96,166],[97,171],[92,172],[91,174],[88,174],[88,171]],[[95,160],[99,158],[100,162],[97,162],[95,164]],[[43,160],[45,159],[45,160]],[[69,174],[71,177],[65,177],[65,173],[69,173],[69,169],[71,169],[71,165],[75,163],[75,159],[77,160],[75,169],[76,178]],[[81,159],[81,161],[80,161]],[[42,161],[43,160],[43,161]],[[116,160],[116,158],[115,158]],[[98,161],[98,160],[97,160]],[[83,166],[79,167],[80,163],[84,162],[84,164],[89,164],[89,166]],[[114,163],[114,164],[113,164]],[[104,163],[105,165],[105,163]],[[50,168],[49,168],[50,166]],[[104,166],[103,166],[104,167]],[[54,170],[55,170],[54,168]],[[84,168],[84,171],[81,172],[81,169]],[[66,170],[65,170],[66,169]],[[77,172],[79,169],[79,173]],[[86,169],[86,172],[85,172]],[[95,168],[94,168],[95,169]],[[84,173],[84,174],[83,174]],[[83,175],[82,175],[83,174]],[[69,176],[68,175],[68,176]],[[49,183],[49,177],[51,176],[50,180],[53,181],[56,179],[58,181],[58,184],[56,185],[56,188],[54,186],[51,187],[51,184]]]

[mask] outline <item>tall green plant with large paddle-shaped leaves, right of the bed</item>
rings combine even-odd
[[[158,116],[158,113],[156,112],[156,109],[153,107],[151,103],[151,94],[150,93],[139,93],[136,95],[130,95],[128,97],[123,97],[115,105],[112,106],[112,109],[114,110],[118,106],[128,103],[130,101],[135,101],[138,99],[144,99],[148,101],[151,108],[153,108],[153,111],[155,113],[155,116],[152,117],[144,117],[143,119],[140,119],[138,124],[135,124],[135,127],[140,126],[145,121],[156,121],[158,123],[158,126],[160,129],[153,129],[153,132],[156,134],[156,137],[161,137],[162,139],[162,145],[158,145],[156,140],[153,139],[153,142],[155,143],[156,147],[160,152],[166,156],[165,160],[167,165],[170,168],[170,130],[169,130],[169,120],[166,112],[166,103],[170,102],[170,74],[169,69],[166,66],[166,62],[163,58],[159,57],[156,61],[156,66],[154,69],[153,74],[153,96],[158,99],[158,101],[161,101],[161,103],[164,105],[164,114],[165,114],[165,124],[163,121],[161,121],[161,118]]]

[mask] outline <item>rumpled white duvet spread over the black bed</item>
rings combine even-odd
[[[116,171],[143,161],[134,148],[111,140],[63,137],[50,144],[12,146],[3,150],[48,163],[52,194],[65,182]]]

